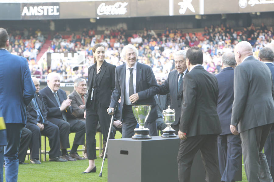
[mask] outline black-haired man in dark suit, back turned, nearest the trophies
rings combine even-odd
[[[218,82],[202,63],[202,50],[198,47],[188,49],[186,65],[189,72],[183,81],[184,97],[178,132],[181,139],[177,157],[180,182],[190,181],[191,165],[198,150],[205,165],[206,181],[220,182],[216,162],[216,139],[222,133],[216,111]]]

